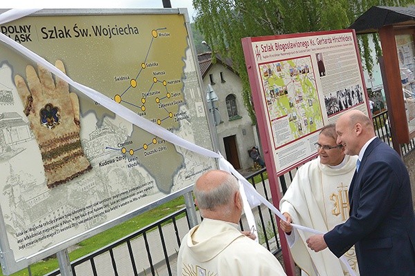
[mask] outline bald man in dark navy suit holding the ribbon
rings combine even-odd
[[[341,257],[355,244],[361,276],[414,276],[415,217],[405,164],[359,110],[340,116],[335,130],[337,144],[360,160],[349,188],[350,217],[309,237],[308,247],[315,252],[329,247]]]

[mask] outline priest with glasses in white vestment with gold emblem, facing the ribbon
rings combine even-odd
[[[344,154],[342,145],[336,144],[335,125],[322,128],[313,159],[297,170],[279,204],[288,222],[320,230],[323,233],[346,221],[349,217],[348,190],[356,170],[357,156]],[[308,248],[306,239],[313,235],[293,229],[291,224],[280,221],[286,233],[291,255],[302,275],[341,276],[349,275],[347,267],[329,250],[320,253]],[[358,275],[354,247],[346,254],[347,261]]]

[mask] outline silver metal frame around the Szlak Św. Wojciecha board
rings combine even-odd
[[[5,12],[5,10],[0,10],[0,12]],[[30,16],[35,17],[49,17],[49,16],[72,16],[72,15],[79,15],[79,16],[101,16],[101,15],[126,15],[126,14],[133,14],[133,15],[151,15],[151,14],[181,14],[184,17],[184,23],[185,28],[187,30],[187,43],[189,43],[190,50],[191,50],[191,59],[193,63],[193,66],[195,68],[196,76],[194,79],[197,81],[196,86],[199,86],[199,92],[201,95],[203,95],[203,81],[201,77],[201,73],[199,70],[199,63],[196,58],[196,50],[194,47],[194,43],[192,40],[192,32],[190,29],[190,21],[189,16],[187,14],[187,9],[174,9],[174,8],[164,8],[164,9],[96,9],[96,10],[85,10],[85,9],[66,9],[66,10],[39,10],[38,12],[35,12],[34,14],[31,14]],[[196,88],[197,89],[197,88]],[[207,110],[207,103],[205,100],[205,97],[201,97],[201,101],[203,102],[203,108]],[[205,111],[206,112],[206,111]],[[206,126],[208,126],[208,131],[210,132],[210,143],[212,145],[212,148],[216,151],[217,149],[217,142],[215,142],[216,135],[214,134],[214,123],[212,121],[212,118],[210,116],[205,116],[205,119],[207,119]],[[216,138],[217,139],[217,138]],[[216,163],[215,163],[216,165]],[[217,166],[217,165],[216,165]],[[3,273],[5,275],[10,275],[10,273],[14,273],[18,270],[21,270],[23,268],[26,268],[28,265],[33,264],[41,259],[44,259],[50,255],[53,255],[55,253],[62,252],[66,250],[69,246],[72,246],[74,244],[77,244],[84,239],[87,239],[89,237],[92,237],[93,235],[96,235],[98,233],[101,233],[104,230],[107,230],[113,226],[116,226],[118,224],[121,224],[124,221],[127,221],[128,219],[131,219],[132,217],[135,217],[136,215],[139,215],[141,213],[144,213],[147,210],[150,210],[152,208],[155,208],[156,206],[159,206],[160,204],[163,204],[167,201],[170,201],[180,195],[184,195],[186,193],[190,193],[192,190],[192,186],[187,186],[185,188],[181,188],[180,190],[176,190],[174,193],[169,193],[168,195],[165,195],[165,197],[158,199],[156,201],[153,201],[149,204],[145,204],[144,206],[140,206],[140,208],[136,208],[134,210],[131,210],[128,213],[124,213],[120,217],[116,217],[115,219],[111,219],[109,221],[104,222],[103,224],[100,224],[94,228],[91,228],[89,230],[84,231],[83,233],[80,233],[79,235],[75,235],[73,237],[68,237],[68,239],[63,239],[62,242],[59,242],[58,244],[53,244],[53,246],[44,248],[42,250],[39,250],[38,252],[27,255],[25,257],[16,259],[15,254],[13,253],[13,250],[10,247],[10,241],[8,239],[7,235],[7,227],[6,223],[4,221],[2,208],[0,205],[0,262],[1,267],[3,270]]]

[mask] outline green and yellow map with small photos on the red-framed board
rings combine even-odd
[[[277,121],[288,119],[289,135],[281,137],[277,135],[278,129],[273,129],[276,147],[322,128],[311,57],[263,63],[259,70],[273,128],[279,126]]]

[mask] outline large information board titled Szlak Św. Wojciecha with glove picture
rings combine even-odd
[[[113,105],[212,149],[187,18],[177,9],[48,10],[0,31]],[[100,100],[0,44],[1,253],[8,263],[24,267],[67,248],[181,193],[216,166]]]

